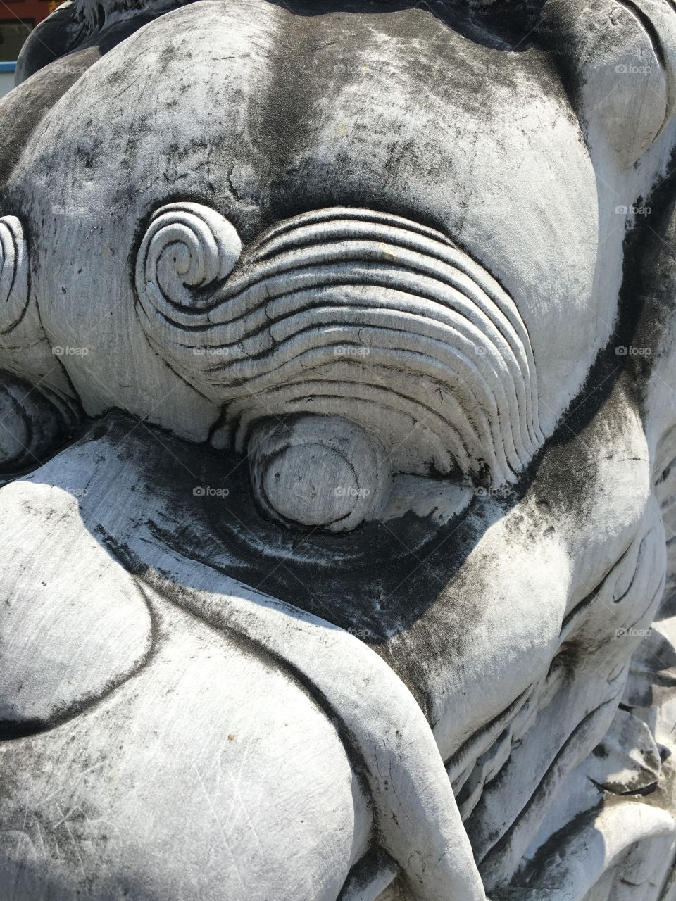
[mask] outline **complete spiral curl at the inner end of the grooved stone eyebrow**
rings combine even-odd
[[[143,236],[136,287],[147,314],[201,307],[198,291],[227,278],[242,253],[242,240],[224,216],[192,203],[160,206]]]

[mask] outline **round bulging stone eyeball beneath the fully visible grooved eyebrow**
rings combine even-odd
[[[349,532],[387,500],[378,441],[340,417],[266,420],[251,435],[249,460],[260,506],[288,525]]]

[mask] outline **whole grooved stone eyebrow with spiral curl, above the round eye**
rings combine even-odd
[[[433,229],[335,208],[272,228],[219,284],[231,230],[205,207],[162,207],[137,289],[153,345],[228,402],[239,450],[263,415],[342,415],[388,446],[424,432],[428,468],[514,481],[543,440],[534,356],[485,269]]]

